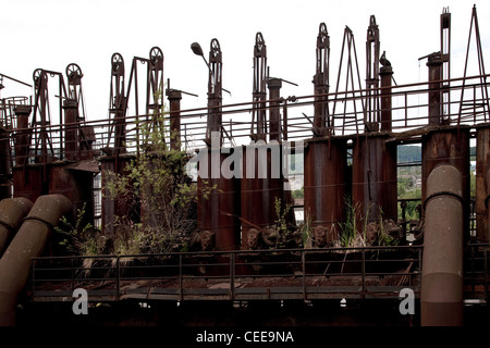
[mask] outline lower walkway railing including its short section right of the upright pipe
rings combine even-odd
[[[467,286],[474,285],[485,286],[485,298],[489,300],[489,245],[488,244],[470,244],[467,245],[467,259],[478,264],[468,263],[469,268],[465,270],[465,276],[469,279],[465,283]],[[39,284],[47,281],[53,284],[60,284],[57,290],[51,293],[42,291],[42,296],[66,296],[66,291],[59,291],[63,289],[63,282],[69,282],[68,290],[71,293],[76,286],[89,286],[97,282],[97,284],[107,283],[108,286],[105,291],[106,296],[112,296],[114,300],[120,300],[122,296],[127,296],[124,290],[124,284],[134,281],[148,282],[171,282],[168,283],[169,289],[160,289],[168,294],[175,300],[184,300],[188,296],[225,296],[230,300],[241,299],[246,294],[248,297],[262,296],[267,289],[270,297],[272,291],[274,296],[280,296],[281,291],[285,291],[283,296],[296,296],[307,300],[313,296],[338,294],[339,296],[351,294],[358,298],[366,298],[367,296],[377,296],[376,294],[383,294],[391,288],[391,296],[395,296],[396,289],[401,287],[411,287],[418,295],[421,288],[421,266],[422,266],[422,249],[424,246],[390,246],[390,247],[351,247],[351,248],[324,248],[324,249],[274,249],[274,250],[231,250],[231,251],[198,251],[198,252],[169,252],[159,254],[131,254],[131,256],[100,256],[100,257],[41,257],[32,259],[32,277],[30,288],[32,296],[36,298]],[[400,254],[392,254],[389,257],[382,251],[401,251]],[[350,251],[350,252],[347,252]],[[357,251],[357,252],[353,252]],[[409,251],[406,253],[405,251]],[[475,252],[474,252],[475,251]],[[479,253],[477,254],[476,251]],[[368,258],[369,256],[378,256],[376,259]],[[357,256],[355,259],[345,259],[345,256]],[[336,258],[334,258],[336,256]],[[380,257],[383,256],[383,257]],[[273,257],[273,258],[272,258]],[[309,257],[309,258],[308,258]],[[145,264],[123,265],[122,260],[132,258],[134,260],[154,260],[155,262],[147,262]],[[159,258],[164,261],[171,260],[170,263],[156,262]],[[197,259],[196,259],[197,258]],[[282,259],[281,259],[282,258]],[[112,260],[110,265],[93,264],[90,268],[83,268],[77,265],[83,260]],[[61,262],[61,263],[60,263]],[[69,262],[70,266],[65,268],[63,263]],[[47,263],[44,268],[42,263]],[[394,264],[400,265],[393,268]],[[256,266],[264,269],[271,269],[269,271],[261,271],[260,273],[247,273]],[[206,268],[205,272],[197,272],[199,268]],[[277,271],[279,268],[280,271]],[[335,270],[336,268],[336,270]],[[340,271],[339,269],[351,268],[350,271]],[[64,271],[70,271],[70,275],[63,277]],[[275,270],[275,271],[274,271]],[[44,273],[47,272],[49,276]],[[58,275],[53,275],[58,272]],[[79,277],[81,272],[102,272],[102,275],[93,274],[87,278]],[[111,273],[112,272],[112,273]],[[125,272],[128,272],[124,274]],[[142,272],[139,275],[130,274],[131,272]],[[147,272],[147,273],[145,273]],[[194,273],[193,273],[194,272]],[[301,273],[298,273],[301,272]],[[354,285],[348,285],[347,288],[328,283],[331,279],[336,279],[341,276],[344,279],[352,279]],[[376,285],[368,284],[368,279],[372,283],[375,278],[392,277],[396,279],[399,285]],[[407,284],[403,277],[407,277]],[[252,288],[243,288],[241,284],[248,282],[250,278],[274,279],[267,286],[255,287],[254,290],[247,293]],[[248,281],[246,281],[248,279]],[[290,279],[295,285],[285,286],[281,284],[282,281]],[[318,281],[327,282],[322,285],[313,285]],[[357,279],[357,281],[355,281]],[[355,282],[354,282],[355,281]],[[173,283],[172,283],[173,282]],[[201,287],[189,287],[184,282],[201,282]],[[215,282],[215,283],[212,283]],[[241,283],[242,282],[242,283]],[[358,282],[358,283],[356,283]],[[218,290],[213,293],[208,287],[203,288],[203,284],[211,285],[217,283],[229,284],[224,293]],[[358,285],[355,285],[358,284]],[[151,283],[152,284],[152,283]],[[155,283],[157,284],[157,283]],[[166,283],[167,284],[167,283]],[[173,284],[173,285],[172,285]],[[157,285],[148,285],[149,287]],[[473,287],[474,289],[474,287]],[[101,290],[99,290],[101,291]],[[148,290],[149,291],[149,290]],[[262,293],[260,293],[262,291]],[[287,293],[290,291],[290,293]],[[345,293],[347,291],[347,293]],[[378,293],[377,293],[378,291]],[[379,293],[381,291],[381,293]],[[97,293],[97,291],[96,291]],[[345,294],[344,294],[345,293]],[[173,294],[173,295],[172,295]],[[262,295],[260,295],[262,294]],[[279,294],[279,295],[278,295]],[[287,295],[290,294],[290,295]],[[292,295],[291,295],[292,294]],[[320,295],[319,295],[320,294]],[[393,295],[394,294],[394,295]],[[469,296],[477,296],[475,290]],[[476,295],[475,295],[476,294]],[[173,297],[172,297],[173,296]],[[379,295],[378,295],[379,296]],[[481,296],[481,295],[478,295]]]

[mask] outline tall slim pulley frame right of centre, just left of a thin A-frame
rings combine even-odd
[[[330,89],[330,36],[327,25],[320,24],[317,36],[317,67],[314,76],[315,115],[313,122],[314,136],[322,137],[331,132],[328,97]]]

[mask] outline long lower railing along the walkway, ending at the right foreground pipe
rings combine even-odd
[[[56,257],[32,260],[35,301],[396,298],[420,289],[420,246]]]

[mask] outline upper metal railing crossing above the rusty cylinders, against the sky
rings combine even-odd
[[[487,83],[482,83],[490,75],[468,76],[461,78],[453,78],[451,80],[440,80],[437,83],[446,84],[451,87],[448,89],[452,95],[451,104],[446,105],[444,113],[445,119],[451,119],[452,125],[476,125],[488,122],[488,105],[489,100],[486,99],[486,94],[480,92],[480,89],[487,88]],[[365,130],[365,110],[364,108],[350,108],[351,103],[366,103],[368,98],[366,89],[355,91],[339,91],[327,95],[309,95],[309,96],[293,96],[281,98],[280,110],[282,111],[281,120],[281,138],[289,140],[306,139],[313,136],[313,111],[315,108],[316,97],[324,98],[330,105],[342,103],[346,107],[339,108],[335,114],[326,115],[331,119],[332,134],[334,135],[356,135]],[[382,88],[379,88],[379,94]],[[392,129],[393,132],[404,132],[415,128],[420,128],[428,125],[428,94],[431,91],[428,82],[407,84],[391,87],[392,107]],[[353,97],[354,96],[354,97]],[[261,102],[262,108],[269,110],[277,107],[278,100],[271,99]],[[232,104],[223,104],[220,107],[222,116],[222,133],[224,138],[224,146],[233,146],[240,144],[248,144],[250,139],[250,124],[252,111],[254,110],[254,102],[241,102]],[[264,107],[265,105],[265,107]],[[464,108],[462,107],[464,105]],[[5,108],[3,108],[5,109]],[[3,110],[2,109],[2,110]],[[7,110],[7,109],[5,109]],[[182,149],[186,151],[194,151],[196,148],[205,146],[206,138],[207,115],[210,108],[198,108],[180,110],[179,116],[181,119],[180,140]],[[385,110],[378,110],[379,112]],[[7,111],[5,111],[7,112]],[[5,113],[7,115],[7,113]],[[150,141],[147,139],[144,132],[148,122],[152,122],[156,115],[126,115],[124,117],[124,149],[120,149],[122,153],[136,154],[139,148]],[[164,138],[169,140],[170,119],[174,117],[172,112],[162,112],[157,116],[163,117]],[[84,120],[83,122],[72,124],[57,124],[56,117],[52,123],[45,126],[34,126],[30,128],[17,128],[16,116],[10,111],[9,119],[12,122],[12,127],[9,129],[12,161],[15,163],[20,157],[27,157],[27,163],[36,162],[36,158],[40,156],[39,141],[37,137],[47,137],[49,140],[49,157],[54,159],[64,159],[66,144],[78,142],[79,139],[64,139],[68,130],[82,129],[85,136],[88,136],[86,142],[90,142],[90,149],[95,157],[105,156],[102,151],[105,148],[114,148],[114,120],[110,120],[108,115],[94,117],[93,121]],[[17,144],[15,148],[16,138],[19,136],[29,135],[28,144]],[[19,152],[19,153],[15,153]],[[27,153],[27,154],[25,154]]]

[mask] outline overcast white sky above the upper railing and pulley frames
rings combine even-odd
[[[353,32],[360,76],[365,77],[366,30],[376,15],[381,52],[387,51],[399,85],[424,82],[427,67],[418,58],[438,51],[439,17],[452,14],[452,77],[463,75],[471,8],[478,20],[486,62],[490,58],[490,1],[412,0],[1,0],[0,73],[33,83],[42,67],[63,72],[81,66],[87,119],[107,117],[110,60],[123,55],[128,80],[133,57],[148,58],[158,46],[164,55],[164,79],[173,88],[199,95],[186,97],[183,109],[205,107],[207,69],[191,51],[200,42],[208,57],[212,38],[223,54],[223,103],[252,101],[255,36],[261,32],[271,76],[298,84],[283,85],[283,96],[313,94],[318,27],[324,22],[331,42],[331,86],[339,69],[344,28]],[[476,62],[476,55],[473,54]],[[488,65],[488,64],[486,64]],[[488,65],[487,73],[490,72]],[[29,96],[33,90],[4,80],[1,98]],[[333,87],[332,87],[333,88]],[[332,91],[332,89],[331,89]]]

